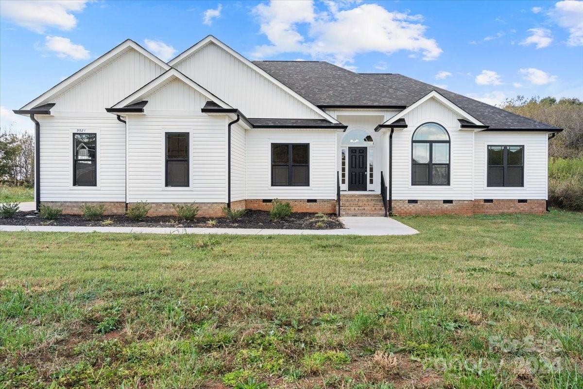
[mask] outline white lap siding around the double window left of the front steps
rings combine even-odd
[[[271,186],[271,143],[310,143],[310,187]],[[247,198],[335,199],[336,132],[247,131]]]

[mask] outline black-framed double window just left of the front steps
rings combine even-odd
[[[271,185],[310,186],[310,145],[271,143]]]

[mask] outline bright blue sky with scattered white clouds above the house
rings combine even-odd
[[[489,104],[583,100],[583,1],[0,0],[0,126],[127,38],[168,61],[208,34],[249,59],[401,73]]]

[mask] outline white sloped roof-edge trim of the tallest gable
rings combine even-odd
[[[202,40],[198,41],[197,43],[195,43],[191,47],[187,48],[187,50],[182,51],[176,57],[174,57],[173,59],[170,59],[170,61],[167,62],[167,65],[174,67],[174,65],[177,64],[178,62],[180,62],[182,59],[188,57],[189,55],[191,55],[192,53],[194,53],[195,50],[198,50],[198,48],[201,48],[201,47],[205,46],[206,44],[208,44],[210,42],[215,43],[220,48],[222,48],[223,50],[229,52],[235,58],[239,59],[245,65],[249,66],[251,69],[254,69],[260,75],[264,76],[264,78],[266,78],[266,79],[270,80],[271,82],[275,83],[275,85],[277,85],[281,89],[285,90],[285,92],[287,92],[288,94],[290,94],[291,96],[293,96],[295,99],[299,100],[301,103],[303,103],[308,108],[311,108],[311,110],[313,110],[315,113],[321,115],[322,117],[324,117],[325,119],[327,119],[327,120],[329,120],[331,122],[336,122],[336,123],[339,122],[338,120],[336,120],[335,118],[333,118],[328,113],[322,111],[321,108],[319,108],[315,104],[311,103],[311,101],[309,101],[305,97],[301,96],[301,94],[299,94],[297,92],[294,92],[294,90],[291,89],[289,86],[285,85],[285,83],[283,83],[280,80],[276,79],[271,74],[269,74],[268,72],[264,71],[264,69],[261,69],[259,66],[255,65],[252,61],[250,61],[249,59],[245,58],[239,52],[237,52],[236,50],[234,50],[233,48],[231,48],[229,45],[223,43],[219,38],[217,38],[215,36],[212,36],[212,35],[208,35],[205,38],[202,38]]]

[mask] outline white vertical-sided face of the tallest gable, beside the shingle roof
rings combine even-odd
[[[263,71],[251,62],[244,61],[209,38],[191,54],[179,55],[168,64],[212,90],[247,117],[326,118],[335,121],[283,84],[278,85],[267,73],[260,73]]]

